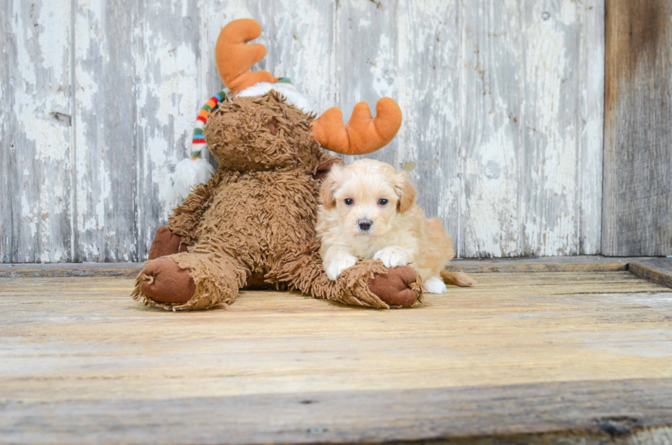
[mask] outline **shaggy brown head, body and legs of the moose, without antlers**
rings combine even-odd
[[[205,128],[219,169],[167,224],[188,252],[149,261],[136,280],[136,300],[200,309],[228,304],[240,288],[264,282],[358,306],[389,309],[420,301],[421,285],[410,267],[388,272],[380,261],[367,260],[336,281],[326,276],[315,237],[320,182],[313,176],[342,161],[320,150],[309,130],[312,119],[275,92],[219,104]],[[189,271],[191,298],[183,301],[191,289],[184,279],[181,300],[145,290],[151,277],[151,289],[167,289],[162,280],[173,277],[174,267],[157,267],[156,261]]]

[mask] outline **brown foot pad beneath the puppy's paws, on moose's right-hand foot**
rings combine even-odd
[[[387,274],[369,279],[369,289],[389,306],[410,307],[420,298],[416,271],[409,266],[392,267]]]

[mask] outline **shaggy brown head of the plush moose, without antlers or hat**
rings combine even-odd
[[[219,103],[205,127],[219,167],[237,171],[304,169],[313,173],[320,144],[311,137],[311,115],[276,91]]]

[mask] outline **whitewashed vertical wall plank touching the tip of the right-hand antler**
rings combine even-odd
[[[427,217],[440,217],[459,246],[459,1],[402,1],[396,25],[404,121],[394,165],[418,185],[417,204]]]

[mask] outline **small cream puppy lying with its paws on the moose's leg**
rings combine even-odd
[[[453,241],[438,218],[425,219],[413,204],[417,193],[406,173],[378,160],[332,167],[317,214],[328,277],[335,280],[360,258],[376,258],[385,267],[410,265],[430,293],[445,293],[445,282],[475,285],[466,274],[444,271],[455,256]]]

